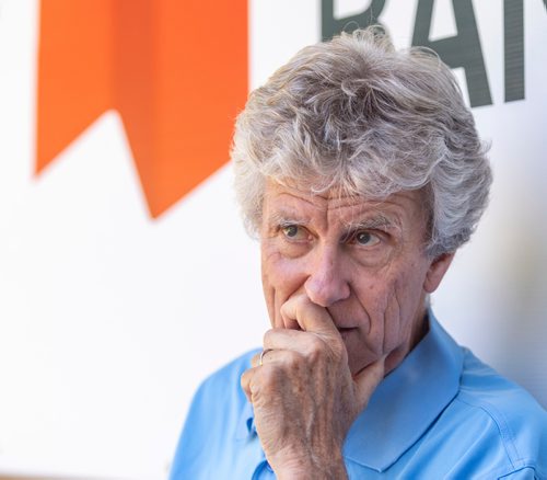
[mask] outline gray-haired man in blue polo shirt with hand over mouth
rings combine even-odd
[[[428,307],[491,182],[449,68],[370,30],[304,48],[232,157],[272,328],[200,387],[172,480],[547,478],[546,412]]]

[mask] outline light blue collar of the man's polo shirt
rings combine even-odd
[[[463,354],[429,311],[429,332],[376,388],[351,426],[344,456],[383,471],[439,416],[459,389]],[[236,438],[256,434],[253,407],[244,402]]]

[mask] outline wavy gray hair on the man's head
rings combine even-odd
[[[453,252],[486,208],[491,171],[449,67],[396,52],[377,28],[300,50],[253,91],[236,122],[236,196],[257,232],[266,180],[382,199],[421,190],[427,254]]]

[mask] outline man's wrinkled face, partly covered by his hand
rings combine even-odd
[[[260,228],[263,286],[274,328],[298,329],[281,306],[305,293],[340,332],[352,374],[388,355],[393,369],[424,333],[424,296],[452,255],[424,254],[419,192],[382,203],[267,183]]]

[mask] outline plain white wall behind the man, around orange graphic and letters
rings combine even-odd
[[[341,16],[369,4],[335,3]],[[526,99],[504,103],[503,2],[474,3],[493,100],[474,113],[496,180],[433,305],[547,405],[547,13],[524,0]],[[451,5],[437,1],[432,39],[455,34]],[[256,87],[319,38],[319,2],[249,7]],[[415,9],[386,2],[398,46]],[[161,479],[198,382],[268,327],[258,248],[229,164],[150,219],[116,112],[34,176],[37,21],[35,0],[0,0],[0,476]]]

